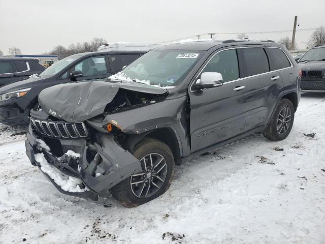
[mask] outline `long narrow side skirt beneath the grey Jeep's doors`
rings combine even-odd
[[[252,134],[254,134],[254,133],[261,133],[261,132],[263,132],[267,127],[268,127],[268,125],[266,125],[266,126],[260,126],[260,127],[257,127],[257,128],[255,128],[255,129],[253,129],[253,130],[250,130],[250,131],[247,131],[247,132],[245,132],[245,133],[243,133],[243,134],[240,134],[240,135],[238,135],[238,136],[235,136],[235,137],[232,137],[232,138],[230,138],[230,139],[227,139],[227,140],[225,140],[225,141],[218,142],[218,143],[216,143],[216,144],[214,144],[214,145],[212,145],[212,146],[208,146],[208,147],[203,148],[203,149],[200,149],[200,150],[198,150],[198,151],[194,151],[194,153],[192,153],[192,154],[190,154],[190,155],[188,155],[188,156],[182,158],[182,159],[181,159],[181,160],[182,160],[181,163],[183,164],[183,163],[185,163],[185,162],[187,162],[187,161],[189,161],[189,160],[191,160],[191,159],[193,159],[193,158],[195,158],[195,157],[198,157],[198,156],[200,156],[200,155],[202,155],[202,154],[204,154],[204,153],[207,153],[208,151],[211,151],[211,150],[213,150],[213,149],[216,149],[216,148],[218,148],[218,147],[224,146],[224,145],[226,145],[226,144],[229,144],[229,143],[232,143],[232,142],[238,141],[238,140],[243,139],[243,138],[245,138],[245,137],[248,137],[248,136],[250,136],[250,135],[252,135]]]

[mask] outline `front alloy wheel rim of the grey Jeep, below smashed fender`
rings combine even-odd
[[[131,190],[138,198],[147,198],[155,194],[163,186],[167,163],[160,154],[152,153],[141,160],[142,172],[131,175]]]

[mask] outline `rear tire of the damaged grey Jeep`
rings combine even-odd
[[[290,120],[289,120],[290,124],[287,125],[287,123],[282,122],[284,128],[281,131],[281,127],[279,127],[279,129],[278,129],[278,126],[281,125],[280,120],[282,119],[283,111],[284,112],[286,111],[285,109],[288,109],[287,111],[288,111],[288,113],[290,113],[290,116],[286,119],[286,121],[287,121],[290,118]],[[281,115],[280,115],[280,113],[281,113]],[[270,124],[263,132],[263,135],[266,138],[273,140],[273,141],[281,141],[281,140],[285,139],[290,134],[290,131],[293,128],[294,119],[295,119],[295,108],[294,108],[293,103],[288,99],[281,99],[274,114],[272,115]],[[285,127],[285,125],[287,127]],[[286,130],[285,130],[285,128],[286,128]]]

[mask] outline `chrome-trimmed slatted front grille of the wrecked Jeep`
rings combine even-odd
[[[43,135],[56,138],[85,138],[88,130],[84,122],[45,121],[30,117],[31,126]]]

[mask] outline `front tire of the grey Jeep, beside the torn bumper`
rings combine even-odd
[[[150,195],[148,197],[140,198],[140,197],[136,196],[134,193],[135,185],[133,185],[133,188],[131,187],[131,182],[134,178],[132,179],[132,176],[130,176],[130,177],[122,180],[121,182],[119,182],[119,184],[114,186],[110,191],[111,191],[113,197],[125,207],[135,207],[135,206],[141,205],[143,203],[149,202],[149,201],[159,197],[160,195],[164,194],[169,189],[169,187],[171,185],[173,175],[174,175],[174,157],[173,157],[172,150],[162,141],[159,141],[159,140],[156,140],[153,138],[144,138],[139,144],[136,145],[133,155],[137,159],[142,160],[145,156],[147,156],[149,154],[152,154],[152,155],[156,154],[159,156],[163,156],[163,158],[165,160],[163,162],[166,162],[166,166],[167,166],[166,173],[164,175],[165,176],[164,182],[161,183],[162,185],[160,186],[159,189],[153,189],[153,191],[151,191],[152,195]],[[146,159],[142,160],[142,162],[141,162],[141,164],[142,164],[141,166],[142,166],[143,170],[145,170],[144,169],[145,168],[144,164],[146,163],[145,160]],[[157,168],[158,168],[158,166],[157,166]],[[153,172],[154,172],[154,170],[153,170]],[[164,172],[165,172],[165,168],[164,168]],[[147,179],[147,175],[144,175],[141,177],[144,177]],[[151,179],[153,179],[153,177],[151,177]],[[147,180],[147,182],[148,182],[148,180]],[[150,178],[149,178],[148,183],[152,183],[152,182],[153,182],[153,180],[150,180]],[[144,183],[144,184],[146,184],[146,183]],[[140,187],[139,187],[139,189],[140,189]],[[149,189],[149,191],[150,191],[150,189]],[[156,192],[154,192],[154,191],[156,191]],[[141,196],[141,193],[140,193],[140,196]]]

